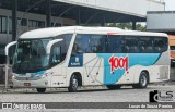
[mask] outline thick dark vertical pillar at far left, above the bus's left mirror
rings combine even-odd
[[[18,0],[12,0],[12,41],[16,39],[16,11]]]

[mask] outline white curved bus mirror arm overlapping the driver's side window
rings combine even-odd
[[[55,40],[52,40],[52,41],[49,41],[48,45],[47,45],[47,47],[46,47],[46,53],[47,53],[47,54],[50,54],[50,52],[51,52],[51,47],[52,47],[55,43],[60,42],[60,41],[63,41],[63,39],[55,39]]]

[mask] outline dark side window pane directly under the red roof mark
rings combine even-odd
[[[121,36],[108,36],[107,38],[107,52],[119,53],[122,52],[124,49],[124,40]]]

